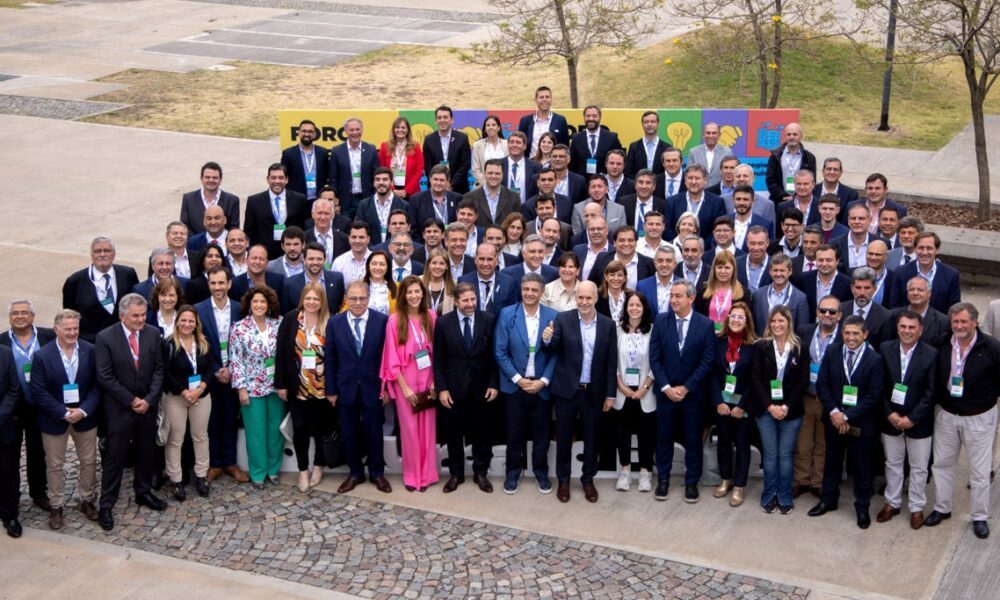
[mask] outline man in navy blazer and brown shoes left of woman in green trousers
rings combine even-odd
[[[215,481],[225,473],[239,483],[246,483],[250,476],[236,464],[236,415],[240,407],[229,371],[229,331],[240,319],[239,299],[228,297],[232,284],[228,269],[212,267],[208,271],[208,289],[212,297],[195,304],[194,309],[198,311],[201,332],[212,352],[214,374],[208,381],[212,396],[212,413],[208,419],[208,480]]]

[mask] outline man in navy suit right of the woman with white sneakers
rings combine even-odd
[[[674,462],[675,421],[684,429],[684,501],[698,501],[702,467],[702,419],[709,399],[709,378],[715,365],[715,327],[692,310],[695,289],[685,280],[670,288],[671,311],[653,322],[649,340],[649,367],[656,394],[655,498],[666,500]]]

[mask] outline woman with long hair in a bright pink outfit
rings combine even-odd
[[[419,277],[410,275],[399,284],[396,309],[389,316],[382,351],[383,393],[396,402],[403,452],[403,485],[421,492],[438,480],[437,426],[434,408],[413,412],[417,395],[434,395],[434,323],[427,290]]]

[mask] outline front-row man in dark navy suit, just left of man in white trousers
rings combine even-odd
[[[837,509],[846,452],[854,469],[854,511],[861,529],[872,522],[871,452],[878,439],[884,386],[882,357],[865,344],[867,336],[864,319],[847,317],[841,325],[844,343],[831,346],[819,367],[816,392],[823,403],[826,463],[820,501],[809,510],[810,517],[819,517]]]

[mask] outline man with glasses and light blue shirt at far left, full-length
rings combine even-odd
[[[38,411],[32,401],[30,384],[32,357],[42,346],[54,340],[56,334],[47,327],[35,326],[35,309],[29,300],[11,302],[8,317],[10,329],[0,334],[0,345],[7,346],[14,353],[14,365],[24,396],[24,401],[17,403],[14,417],[18,439],[23,437],[25,440],[28,493],[35,506],[49,511],[52,507],[46,492],[45,448],[36,422]]]

